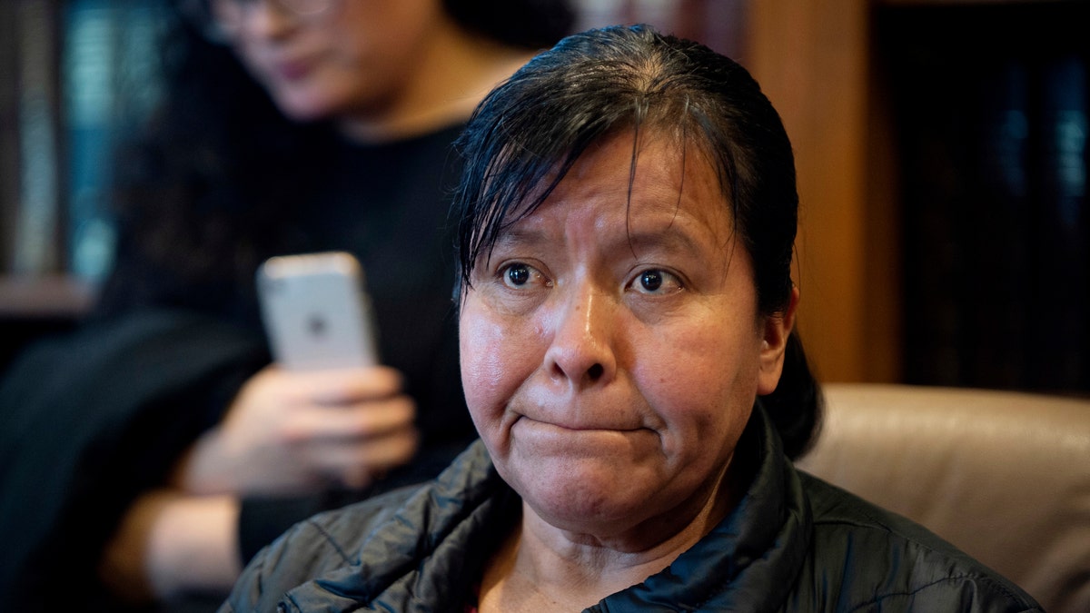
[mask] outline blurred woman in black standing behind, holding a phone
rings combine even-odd
[[[564,0],[179,0],[164,104],[125,149],[88,321],[0,384],[0,600],[218,603],[312,513],[434,476],[474,437],[458,372],[450,144]],[[105,152],[104,152],[105,154]],[[269,364],[267,257],[363,264],[383,365]],[[62,586],[62,589],[57,589]]]

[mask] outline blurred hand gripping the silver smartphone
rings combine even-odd
[[[386,366],[251,377],[223,420],[175,467],[173,484],[201,495],[279,495],[364,488],[412,459],[416,407]]]

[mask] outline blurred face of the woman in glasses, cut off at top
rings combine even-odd
[[[439,0],[331,0],[304,16],[275,0],[246,4],[237,11],[232,46],[280,110],[299,121],[380,113],[408,86],[446,19]]]

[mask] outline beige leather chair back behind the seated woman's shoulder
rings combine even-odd
[[[798,466],[936,532],[1050,613],[1090,613],[1090,400],[825,386]]]

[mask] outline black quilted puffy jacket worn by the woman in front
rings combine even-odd
[[[755,470],[735,510],[668,568],[589,611],[1041,610],[924,528],[797,472],[762,410],[741,445]],[[292,528],[220,613],[464,611],[520,509],[476,442],[429,485]]]

